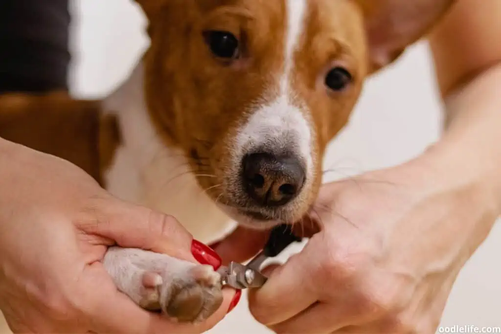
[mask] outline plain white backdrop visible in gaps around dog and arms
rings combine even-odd
[[[72,90],[108,94],[148,46],[145,19],[130,0],[74,0]],[[440,134],[441,105],[427,45],[419,43],[371,78],[347,128],[331,145],[326,167],[335,179],[403,162]],[[360,208],[363,210],[363,208]],[[501,230],[496,226],[459,275],[442,325],[501,326]],[[294,251],[297,251],[295,249]],[[243,298],[242,298],[243,299]],[[211,333],[266,333],[241,300]]]

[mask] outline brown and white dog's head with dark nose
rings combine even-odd
[[[138,0],[146,99],[167,145],[243,224],[300,218],[364,79],[452,0]]]

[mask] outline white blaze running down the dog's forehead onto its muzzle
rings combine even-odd
[[[234,162],[238,162],[249,150],[265,145],[273,152],[284,149],[293,151],[306,163],[307,184],[313,176],[313,124],[307,106],[298,99],[293,90],[291,72],[294,68],[294,55],[304,31],[308,10],[308,0],[286,0],[287,26],[285,34],[284,66],[272,85],[250,111],[250,117],[237,130]],[[277,92],[278,94],[274,93]],[[277,96],[278,95],[278,96]],[[305,186],[305,190],[308,186]]]

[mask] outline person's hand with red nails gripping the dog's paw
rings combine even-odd
[[[175,219],[120,201],[64,160],[0,139],[0,309],[15,332],[203,332],[117,291],[101,260],[110,245],[217,266]],[[190,251],[191,249],[191,251]],[[205,258],[203,255],[206,255]]]

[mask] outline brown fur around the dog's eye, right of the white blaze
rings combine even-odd
[[[347,123],[362,89],[367,49],[362,13],[350,1],[314,1],[306,20],[293,76],[294,89],[308,105],[317,135],[318,177],[308,199],[310,205],[320,186],[327,145]],[[332,92],[324,85],[327,72],[335,66],[346,68],[353,76],[353,82],[342,92]]]

